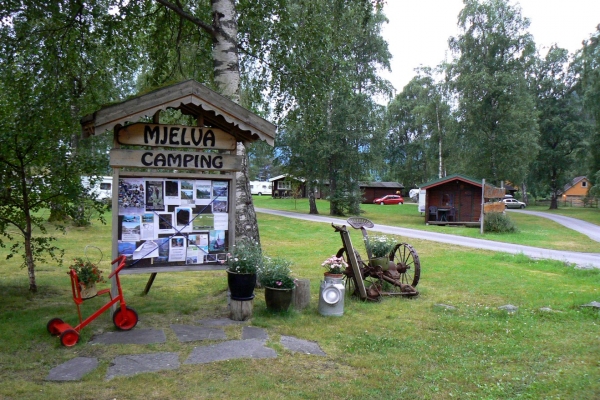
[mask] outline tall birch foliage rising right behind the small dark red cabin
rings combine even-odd
[[[538,152],[535,98],[528,84],[535,45],[529,21],[507,0],[465,0],[458,56],[449,75],[458,94],[458,136],[465,172],[522,182]]]

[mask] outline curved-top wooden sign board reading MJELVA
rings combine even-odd
[[[116,131],[120,144],[134,146],[185,147],[195,149],[235,150],[235,138],[216,128],[185,125],[135,123]]]

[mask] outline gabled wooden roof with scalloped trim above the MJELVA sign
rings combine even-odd
[[[277,127],[195,80],[166,86],[118,104],[102,107],[81,119],[83,137],[103,134],[118,125],[153,117],[168,108],[202,116],[207,126],[223,129],[238,141],[263,140],[274,145]]]

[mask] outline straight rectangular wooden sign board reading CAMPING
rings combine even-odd
[[[242,158],[232,154],[194,151],[123,150],[110,151],[110,166],[185,169],[197,171],[240,171]]]

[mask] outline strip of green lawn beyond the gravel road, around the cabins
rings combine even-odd
[[[308,214],[309,210],[308,199],[273,199],[268,196],[254,196],[253,200],[256,207],[293,211],[304,214]],[[329,214],[329,202],[325,200],[318,200],[317,208],[320,214]],[[600,246],[598,245],[598,242],[591,240],[589,237],[571,229],[567,229],[564,226],[547,218],[536,217],[533,215],[508,213],[508,216],[519,228],[518,233],[486,233],[481,235],[479,228],[425,225],[425,217],[418,212],[417,206],[414,203],[407,203],[397,206],[362,204],[361,209],[363,211],[362,216],[369,218],[376,224],[392,225],[402,228],[419,229],[439,233],[449,233],[453,235],[496,240],[499,242],[516,243],[526,246],[542,247],[555,250],[580,251],[587,253],[600,252]],[[593,211],[588,212],[587,210]],[[538,211],[541,211],[541,208]],[[580,215],[585,216],[585,220],[593,222],[595,215],[600,216],[600,210],[588,208],[586,209],[586,212],[581,212],[572,216],[574,218],[578,218]],[[598,229],[600,229],[600,226]]]

